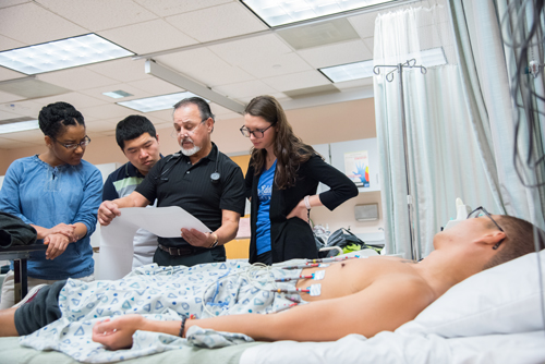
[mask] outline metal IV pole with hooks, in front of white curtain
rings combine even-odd
[[[411,193],[411,183],[409,182],[410,170],[409,170],[409,148],[407,143],[407,122],[405,122],[405,105],[403,98],[403,68],[408,69],[420,69],[422,74],[426,74],[427,70],[423,65],[416,65],[416,60],[411,59],[404,63],[398,63],[395,65],[382,64],[375,65],[373,68],[373,73],[376,75],[380,74],[380,68],[393,69],[386,74],[386,81],[393,81],[393,72],[398,71],[399,73],[399,99],[400,99],[400,110],[401,110],[401,126],[403,130],[403,149],[404,149],[404,159],[405,159],[405,180],[407,180],[407,207],[409,210],[409,239],[411,243],[411,255],[413,260],[419,260],[421,258],[420,246],[414,243],[414,228],[413,228],[413,198]]]

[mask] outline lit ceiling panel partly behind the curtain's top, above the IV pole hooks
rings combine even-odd
[[[425,68],[432,68],[436,65],[447,64],[447,59],[445,58],[445,52],[443,48],[432,48],[422,50],[419,52],[408,53],[403,56],[398,56],[396,60],[386,59],[384,62],[386,65],[396,65],[398,63],[404,63],[408,60],[414,59],[416,65],[423,65]],[[331,80],[331,82],[343,82],[352,81],[358,78],[366,78],[374,75],[373,73],[373,60],[354,62],[348,64],[340,64],[334,66],[327,66],[319,69],[326,77]],[[391,69],[393,70],[393,68]],[[389,72],[390,70],[380,70],[380,72]]]

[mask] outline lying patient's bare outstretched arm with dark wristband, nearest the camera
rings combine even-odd
[[[429,288],[414,279],[377,280],[358,293],[312,302],[278,314],[190,319],[185,330],[196,325],[217,331],[242,332],[258,341],[331,341],[349,333],[370,338],[383,330],[395,330],[413,319],[433,300]],[[132,344],[135,330],[178,335],[180,321],[155,321],[138,315],[123,316],[97,324],[93,340],[110,349],[126,348]]]

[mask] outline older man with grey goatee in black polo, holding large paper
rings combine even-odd
[[[181,150],[159,160],[129,196],[105,201],[98,221],[107,226],[122,207],[180,206],[213,232],[182,229],[182,238],[159,238],[154,262],[161,266],[193,266],[223,262],[223,244],[231,241],[244,213],[242,170],[211,143],[214,114],[199,98],[174,105],[174,130]]]

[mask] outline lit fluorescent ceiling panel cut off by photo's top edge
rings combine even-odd
[[[278,26],[392,0],[241,0],[267,25]]]

